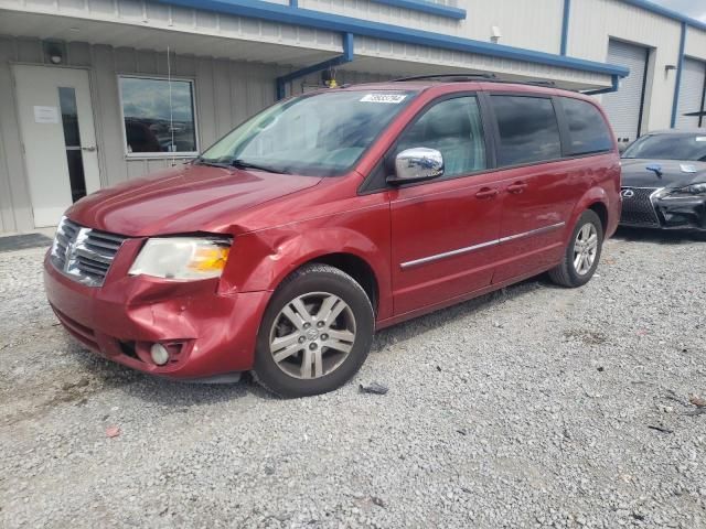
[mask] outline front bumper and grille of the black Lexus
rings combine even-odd
[[[633,195],[625,197],[625,191]],[[661,195],[659,188],[623,187],[620,225],[706,231],[706,196]]]

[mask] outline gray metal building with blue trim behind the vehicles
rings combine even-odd
[[[700,1],[700,0],[699,0]],[[0,231],[192,158],[279,97],[439,72],[550,79],[617,136],[706,127],[706,24],[644,0],[0,0]]]

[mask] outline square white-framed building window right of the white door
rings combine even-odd
[[[197,153],[191,80],[119,77],[128,156]]]

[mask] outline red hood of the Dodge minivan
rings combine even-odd
[[[185,164],[100,190],[66,215],[127,236],[224,231],[237,224],[239,212],[319,182],[319,176]]]

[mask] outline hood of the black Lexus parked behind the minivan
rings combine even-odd
[[[706,182],[706,162],[623,158],[621,165],[622,185],[628,187],[684,187]],[[659,165],[662,176],[648,165]]]

